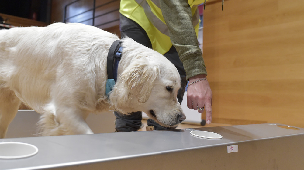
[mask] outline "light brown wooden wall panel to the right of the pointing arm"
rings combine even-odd
[[[304,1],[207,2],[212,122],[304,127]],[[204,116],[202,116],[204,119]]]

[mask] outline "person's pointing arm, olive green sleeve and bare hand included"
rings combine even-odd
[[[198,47],[192,12],[187,0],[160,0],[161,11],[169,29],[170,39],[182,61],[189,84],[206,78],[207,72]],[[197,110],[206,109],[206,122],[211,123],[212,92],[207,80],[191,84],[187,90],[187,106]],[[198,110],[199,113],[203,111]]]

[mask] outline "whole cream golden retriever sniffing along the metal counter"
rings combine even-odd
[[[117,81],[106,95],[107,55],[116,40],[79,23],[0,30],[0,138],[22,102],[41,114],[41,136],[91,134],[85,119],[103,110],[143,111],[163,126],[185,120],[177,69],[127,37]]]

